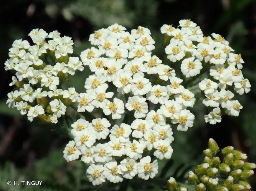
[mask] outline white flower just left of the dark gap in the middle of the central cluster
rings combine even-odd
[[[111,114],[112,119],[120,119],[124,113],[124,102],[115,97],[113,102],[108,101],[102,109],[105,115]]]

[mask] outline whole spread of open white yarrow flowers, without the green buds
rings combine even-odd
[[[53,40],[45,42],[47,33],[33,30],[36,45],[15,41],[5,63],[6,70],[17,71],[18,80],[13,77],[10,85],[24,86],[9,93],[7,103],[21,114],[28,111],[29,120],[38,116],[52,123],[64,115],[66,106],[77,107],[85,117],[71,125],[74,140],[66,145],[64,158],[87,163],[93,185],[136,175],[154,178],[157,160],[172,156],[170,123],[187,131],[195,119],[189,108],[201,101],[210,108],[204,116],[210,124],[221,122],[223,114],[238,116],[242,106],[234,98],[251,87],[241,73],[241,55],[231,53],[223,37],[203,36],[190,20],[179,23],[177,29],[166,24],[161,28],[167,58],[176,62],[172,68],[168,60],[163,64],[152,55],[155,41],[142,26],[127,32],[113,24],[94,31],[89,37],[94,46],[81,52],[82,62],[67,56],[73,52],[69,37],[53,31],[48,35]],[[48,60],[52,63],[45,65]],[[59,79],[83,70],[82,63],[92,72],[85,80],[86,92],[57,89]]]

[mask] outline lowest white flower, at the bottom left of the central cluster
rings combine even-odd
[[[102,182],[106,181],[105,176],[103,175],[104,167],[103,165],[91,164],[86,170],[86,176],[92,185],[100,185]]]

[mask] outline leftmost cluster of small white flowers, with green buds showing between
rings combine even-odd
[[[84,67],[78,57],[68,56],[73,53],[71,37],[60,37],[58,31],[48,34],[43,29],[33,29],[28,36],[33,45],[19,39],[9,49],[5,70],[14,74],[10,86],[16,86],[16,90],[8,93],[7,104],[27,115],[29,121],[38,117],[57,123],[68,103],[78,97],[74,88],[63,91],[61,83]]]

